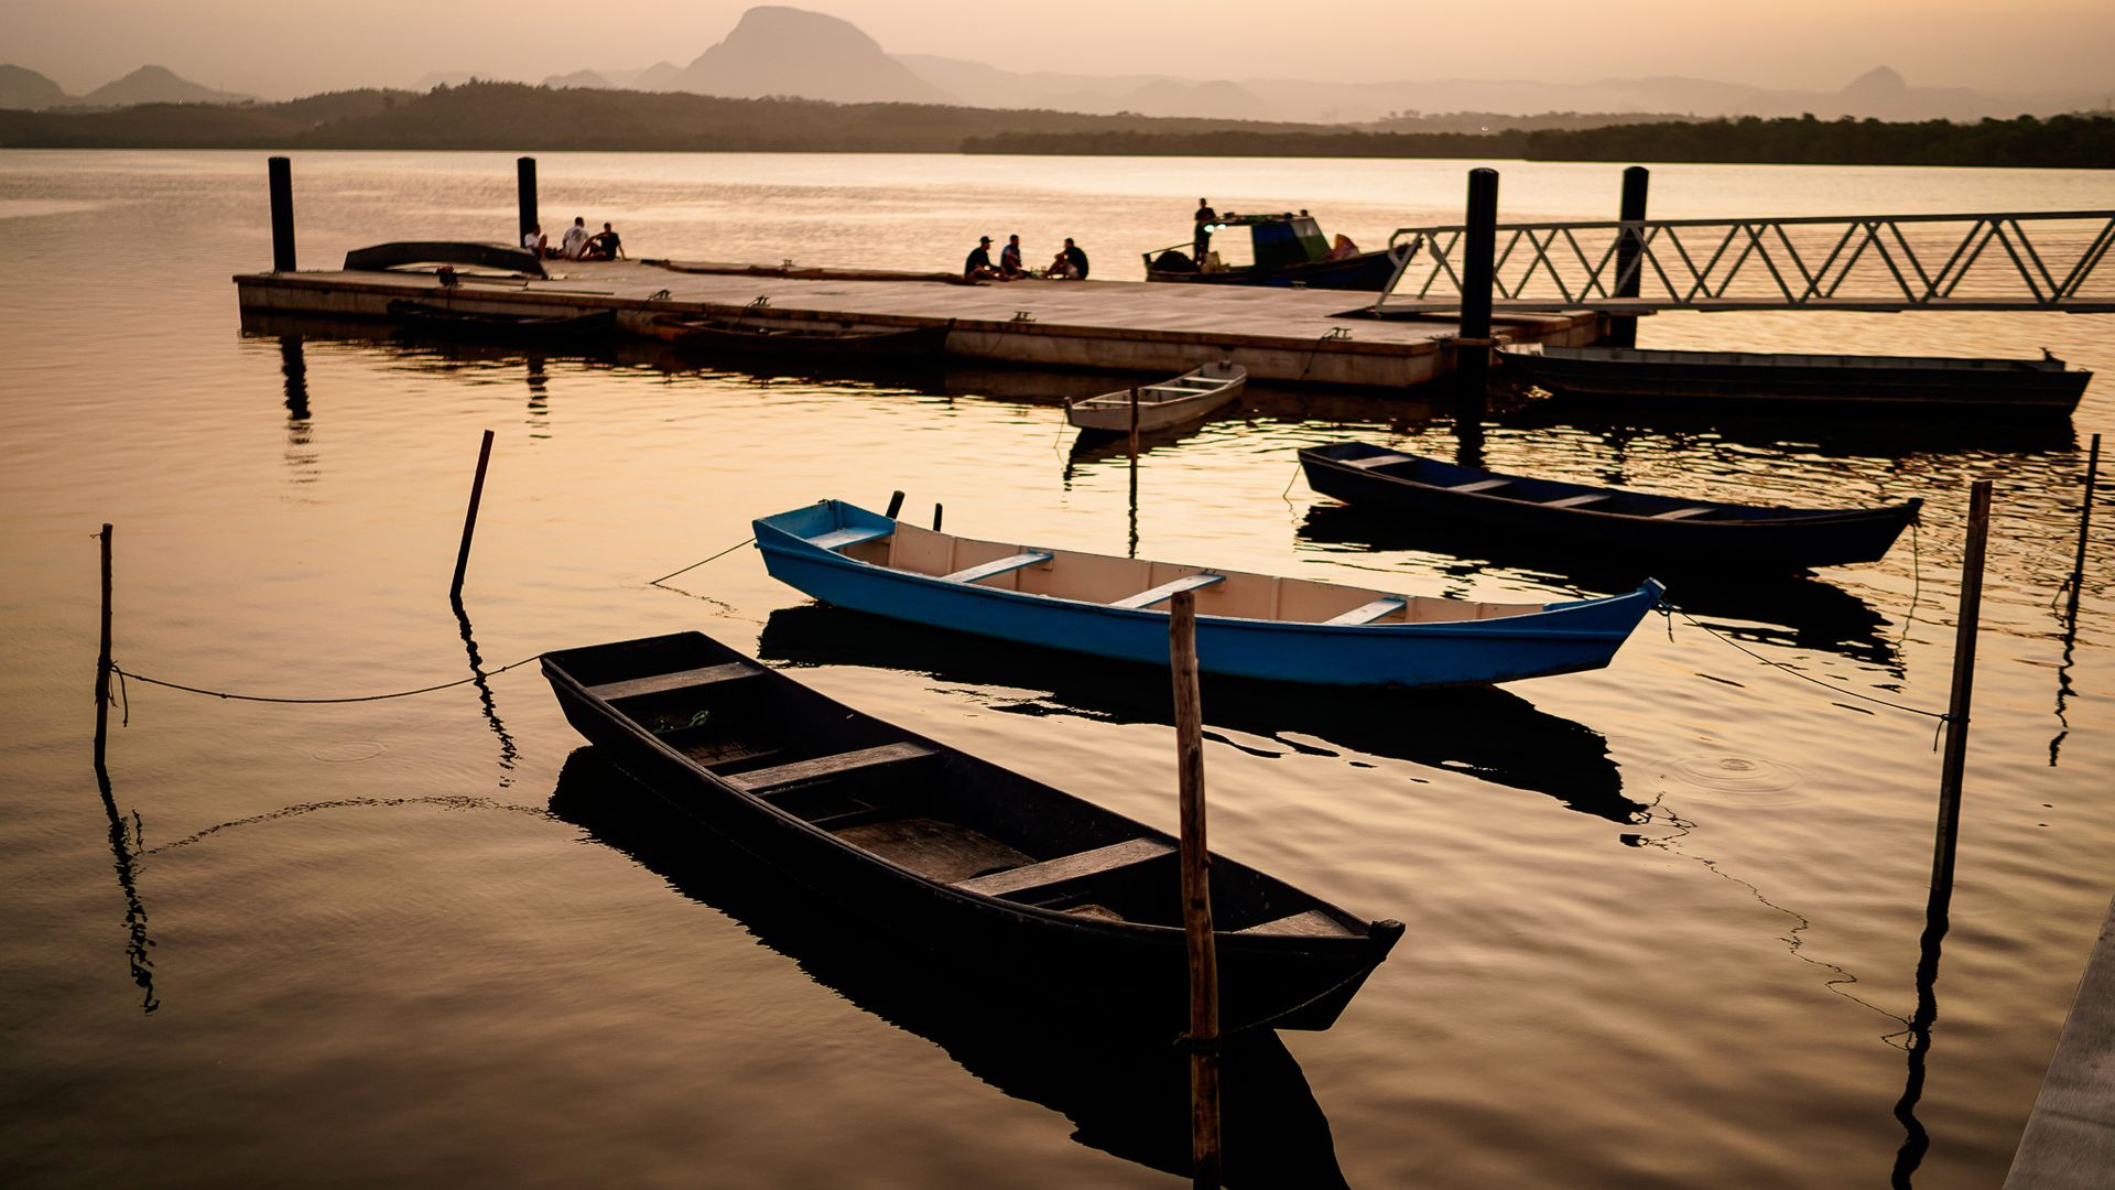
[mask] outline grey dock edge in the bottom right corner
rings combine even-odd
[[[2079,978],[2005,1190],[2115,1186],[2115,904]]]

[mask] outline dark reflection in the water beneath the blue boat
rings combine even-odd
[[[926,673],[950,686],[998,686],[990,707],[1022,716],[1081,716],[1174,724],[1165,671],[1032,646],[994,652],[988,642],[880,620],[825,603],[780,608],[757,637],[757,656],[793,665],[869,665]],[[1148,673],[1151,678],[1151,673]],[[1024,699],[1022,688],[1049,690]],[[1650,807],[1622,796],[1622,773],[1599,733],[1538,711],[1493,686],[1449,690],[1332,690],[1239,678],[1203,678],[1206,735],[1269,756],[1212,728],[1261,737],[1284,752],[1387,756],[1557,798],[1610,822],[1645,822]],[[1417,731],[1402,724],[1415,722]],[[1309,739],[1301,739],[1309,737]],[[1322,741],[1322,745],[1313,743]]]

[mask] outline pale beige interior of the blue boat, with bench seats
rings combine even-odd
[[[983,542],[901,521],[895,521],[893,525],[895,531],[886,538],[854,542],[844,546],[840,553],[854,561],[933,578],[960,574],[988,563],[998,563],[1003,559],[1049,555],[1045,561],[1032,561],[975,578],[975,584],[1028,595],[1051,595],[1055,599],[1079,599],[1085,603],[1119,603],[1180,578],[1218,576],[1216,582],[1195,589],[1197,614],[1244,620],[1318,625],[1337,620],[1339,616],[1368,608],[1383,599],[1400,599],[1400,606],[1375,610],[1371,618],[1360,618],[1358,623],[1432,625],[1455,620],[1497,620],[1506,616],[1527,616],[1546,608],[1544,603],[1478,603],[1470,599],[1436,599],[1423,595],[1400,597],[1385,591],[1341,587],[1309,578],[1282,578],[1273,574],[1210,570],[1203,565],[1110,557],[1047,546]],[[1165,610],[1165,603],[1155,601],[1146,603],[1146,608]]]

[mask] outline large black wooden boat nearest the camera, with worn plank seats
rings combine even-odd
[[[567,720],[668,805],[990,995],[1180,1023],[1176,841],[702,635],[550,652]],[[1172,796],[1172,794],[1170,794]],[[1212,858],[1220,1023],[1326,1029],[1402,936]]]

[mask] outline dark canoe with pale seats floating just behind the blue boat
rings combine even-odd
[[[1529,479],[1368,443],[1301,451],[1307,487],[1345,504],[1445,525],[1533,538],[1561,551],[1743,570],[1876,561],[1923,500],[1880,508],[1781,508],[1650,495]]]

